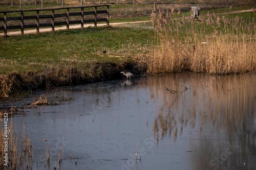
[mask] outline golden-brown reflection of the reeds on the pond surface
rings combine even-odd
[[[192,158],[205,168],[255,167],[255,75],[184,73],[148,77],[148,83],[157,142],[166,136],[176,141],[192,129],[199,134],[191,147],[199,154]]]

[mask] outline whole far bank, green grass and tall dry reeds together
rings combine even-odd
[[[0,37],[1,98],[22,89],[121,78],[120,71],[141,68],[149,74],[255,71],[253,12],[216,14],[230,11],[223,8],[196,21],[179,19],[190,13],[179,14],[175,5],[167,8],[170,13],[174,8],[172,15],[162,4],[157,8],[155,28],[152,23],[137,23]],[[236,8],[241,9],[232,10]]]

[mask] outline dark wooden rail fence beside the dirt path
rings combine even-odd
[[[97,7],[106,7],[106,10],[97,10]],[[94,11],[84,11],[84,8],[94,8]],[[70,12],[70,9],[80,9],[80,12]],[[66,13],[57,13],[55,11],[66,10]],[[94,27],[97,27],[97,22],[106,21],[106,26],[109,27],[109,10],[110,5],[97,5],[97,6],[81,6],[81,7],[66,7],[66,8],[52,8],[52,9],[35,9],[35,10],[16,10],[16,11],[0,11],[0,14],[3,13],[4,17],[0,17],[0,23],[4,22],[4,26],[0,27],[0,30],[4,30],[4,35],[7,36],[7,30],[16,30],[20,29],[20,33],[24,34],[24,29],[36,28],[36,33],[39,34],[39,28],[42,27],[52,27],[54,31],[55,26],[69,26],[71,24],[81,24],[83,29],[84,23],[94,22]],[[36,12],[36,15],[25,16],[26,12]],[[49,15],[39,15],[40,11],[51,11]],[[8,17],[8,13],[20,13],[20,16]],[[97,18],[97,14],[106,14],[105,18]],[[84,19],[84,15],[93,15],[93,19]],[[70,16],[80,16],[79,19],[70,20]],[[55,18],[65,17],[66,21],[55,21]],[[36,24],[24,24],[24,20],[35,19]],[[41,23],[40,19],[51,19],[50,23]],[[8,21],[18,21],[20,24],[8,26]]]

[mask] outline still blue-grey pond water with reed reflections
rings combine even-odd
[[[57,169],[255,169],[255,85],[255,74],[183,72],[70,86],[56,91],[73,101],[14,119],[32,169],[53,169],[59,152]]]

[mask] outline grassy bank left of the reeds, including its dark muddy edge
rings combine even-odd
[[[148,29],[101,27],[0,37],[1,97],[121,78],[120,71],[132,71],[134,59],[152,45],[153,35]]]

